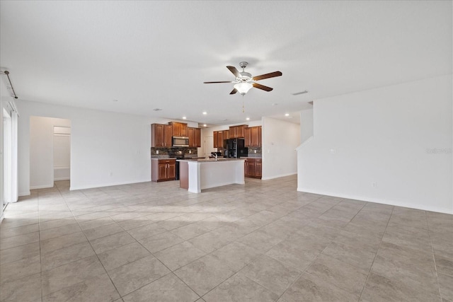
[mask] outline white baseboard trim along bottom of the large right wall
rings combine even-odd
[[[370,197],[356,196],[356,195],[351,195],[351,194],[338,194],[335,192],[323,192],[320,190],[311,190],[311,189],[307,189],[304,187],[297,187],[297,191],[313,193],[313,194],[321,194],[321,195],[333,196],[333,197],[340,197],[340,198],[347,198],[347,199],[355,199],[355,200],[361,200],[363,202],[388,204],[390,206],[395,206],[395,207],[405,207],[405,208],[411,208],[411,209],[419,209],[419,210],[423,210],[423,211],[435,211],[437,213],[453,214],[453,209],[445,209],[445,208],[430,207],[430,206],[420,206],[420,204],[412,204],[410,202],[394,201],[394,200],[381,199],[381,198],[370,198]]]

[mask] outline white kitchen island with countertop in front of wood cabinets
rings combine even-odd
[[[193,193],[222,185],[244,185],[243,158],[180,159],[180,187]]]

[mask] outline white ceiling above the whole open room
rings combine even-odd
[[[233,124],[452,73],[452,1],[2,0],[0,11],[0,66],[19,101]],[[202,83],[233,80],[226,65],[241,61],[283,76],[244,97]]]

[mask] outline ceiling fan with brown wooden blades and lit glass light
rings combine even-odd
[[[247,65],[248,65],[247,62],[239,63],[239,66],[241,66],[241,68],[242,68],[242,72],[239,72],[236,69],[236,67],[234,67],[234,66],[226,66],[226,68],[229,69],[229,71],[231,71],[234,74],[234,76],[236,76],[236,79],[234,81],[217,81],[217,82],[204,82],[204,83],[205,84],[235,83],[233,91],[231,91],[231,93],[229,93],[229,94],[234,94],[236,92],[239,92],[241,95],[245,95],[252,87],[261,89],[263,91],[272,91],[273,88],[258,84],[258,83],[256,83],[256,81],[263,80],[263,79],[269,79],[269,78],[273,78],[275,76],[282,75],[282,73],[280,71],[274,71],[274,72],[271,72],[270,74],[261,74],[260,76],[252,76],[248,72],[244,71],[244,69],[246,68]]]

